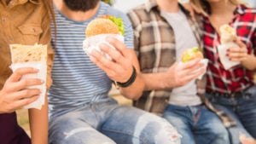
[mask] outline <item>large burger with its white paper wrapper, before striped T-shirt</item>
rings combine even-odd
[[[121,18],[116,18],[112,15],[103,15],[95,20],[91,20],[86,27],[86,38],[83,42],[83,49],[87,55],[90,55],[90,52],[93,49],[102,52],[98,46],[100,43],[107,43],[105,40],[106,37],[116,37],[119,41],[124,42],[124,34],[125,28]],[[113,48],[109,43],[107,44]],[[109,55],[103,55],[108,57],[108,59],[111,59]]]

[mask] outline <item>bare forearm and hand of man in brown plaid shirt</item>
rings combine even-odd
[[[176,62],[166,72],[143,73],[145,89],[172,89],[188,84],[206,71],[199,61],[199,59],[191,60],[185,64]],[[200,71],[195,71],[198,69]]]

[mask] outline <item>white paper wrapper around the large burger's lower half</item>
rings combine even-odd
[[[96,36],[93,36],[93,37],[88,37],[84,40],[83,42],[83,49],[84,49],[84,52],[87,54],[87,55],[90,55],[91,51],[93,49],[96,49],[97,51],[101,52],[102,55],[105,55],[109,60],[112,60],[112,58],[103,53],[102,50],[99,48],[99,45],[101,43],[106,43],[108,44],[111,48],[114,49],[114,47],[112,45],[110,45],[108,42],[106,42],[106,38],[107,37],[115,37],[117,38],[119,41],[123,42],[124,43],[124,37],[122,35],[119,35],[119,34],[100,34],[100,35],[96,35]]]

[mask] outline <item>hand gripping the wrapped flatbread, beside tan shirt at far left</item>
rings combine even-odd
[[[29,73],[36,73],[34,68],[17,69],[5,82],[0,91],[0,113],[15,112],[20,107],[32,103],[40,95],[39,89],[26,89],[29,86],[41,85],[44,82],[38,78],[21,79]]]

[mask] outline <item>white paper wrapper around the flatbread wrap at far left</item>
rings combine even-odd
[[[21,68],[21,67],[33,67],[39,70],[38,73],[33,73],[33,74],[27,74],[25,76],[23,76],[21,79],[25,79],[25,78],[39,78],[39,79],[46,79],[46,74],[47,74],[47,65],[46,65],[46,61],[36,61],[36,62],[25,62],[25,63],[16,63],[16,64],[12,64],[11,69],[13,70],[13,72],[17,69],[17,68]],[[40,89],[41,94],[38,97],[38,100],[32,102],[31,104],[26,105],[25,107],[22,108],[37,108],[37,109],[41,109],[41,107],[44,105],[44,96],[46,93],[46,85],[42,84],[42,85],[35,85],[35,86],[31,86],[31,87],[27,87],[27,89]]]

